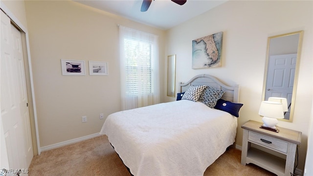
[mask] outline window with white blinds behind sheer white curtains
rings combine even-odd
[[[123,110],[159,103],[158,36],[119,26]]]

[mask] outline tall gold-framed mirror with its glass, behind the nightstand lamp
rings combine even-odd
[[[292,122],[297,87],[303,31],[268,37],[263,100],[269,97],[287,99],[288,111],[283,121]]]

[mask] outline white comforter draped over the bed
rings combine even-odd
[[[180,100],[109,115],[106,134],[134,176],[203,176],[235,141],[237,118]]]

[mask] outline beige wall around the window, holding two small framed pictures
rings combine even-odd
[[[25,8],[40,146],[100,132],[99,114],[121,110],[117,24],[156,34],[161,46],[165,32],[68,0],[27,0]],[[159,56],[162,95],[163,47]],[[61,59],[85,61],[86,76],[62,76]],[[109,75],[90,76],[89,61],[108,62]]]

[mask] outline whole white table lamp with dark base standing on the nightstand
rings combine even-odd
[[[272,132],[279,132],[276,129],[278,118],[284,118],[283,104],[274,101],[262,101],[259,115],[263,116],[263,125],[260,127]]]

